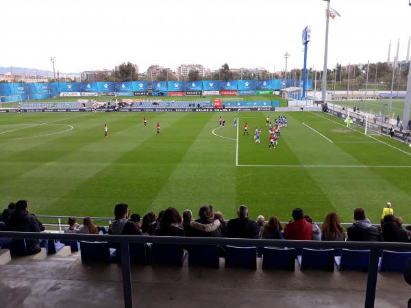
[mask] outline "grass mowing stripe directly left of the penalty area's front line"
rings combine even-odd
[[[212,114],[190,125],[194,130],[190,138],[192,142],[149,209],[159,211],[164,206],[173,206],[180,213],[184,209],[192,209],[197,216],[197,209],[204,204],[212,205],[214,211],[223,212],[227,207],[236,207],[236,188],[232,181],[236,172],[233,162],[235,147],[233,142],[212,136],[210,131],[217,120],[218,116]],[[216,155],[215,149],[225,155]],[[215,185],[214,179],[221,185]]]

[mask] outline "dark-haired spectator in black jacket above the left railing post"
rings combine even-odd
[[[114,220],[108,228],[112,235],[142,235],[135,222],[129,220],[130,210],[127,204],[119,203],[114,207]]]

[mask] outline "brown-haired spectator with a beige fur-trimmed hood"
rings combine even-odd
[[[203,205],[199,209],[199,219],[190,223],[190,236],[204,238],[221,238],[220,220],[213,219],[211,205]]]

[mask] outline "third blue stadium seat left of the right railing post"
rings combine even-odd
[[[295,249],[264,247],[262,251],[262,268],[295,270]]]

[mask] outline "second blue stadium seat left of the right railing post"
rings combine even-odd
[[[302,255],[297,257],[301,270],[328,270],[334,272],[334,249],[303,248]]]

